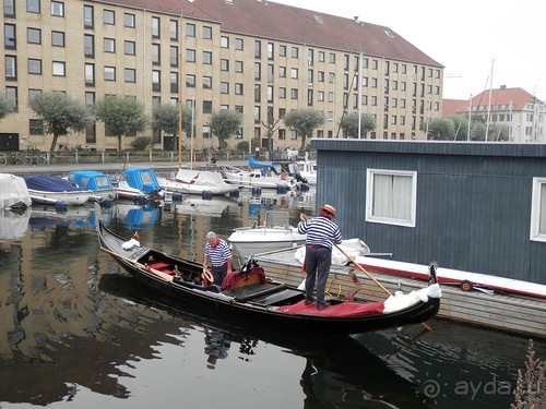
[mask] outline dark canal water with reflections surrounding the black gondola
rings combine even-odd
[[[4,213],[0,408],[509,408],[525,337],[440,320],[353,337],[218,322],[135,282],[94,228],[201,262],[209,230],[314,207],[311,192]]]

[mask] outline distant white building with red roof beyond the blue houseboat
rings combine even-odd
[[[468,100],[444,99],[443,117],[460,115],[487,123],[488,141],[545,142],[546,105],[522,88],[484,91]],[[489,103],[490,99],[490,103]]]

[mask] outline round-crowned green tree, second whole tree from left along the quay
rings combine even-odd
[[[118,151],[121,152],[123,135],[142,132],[146,129],[147,117],[144,105],[135,98],[106,96],[95,105],[97,120],[104,122],[108,133],[118,137]]]

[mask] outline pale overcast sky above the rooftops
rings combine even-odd
[[[272,0],[387,26],[444,67],[443,98],[506,85],[546,100],[539,1]]]

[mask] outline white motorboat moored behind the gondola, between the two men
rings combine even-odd
[[[287,212],[266,212],[263,226],[241,227],[234,230],[227,241],[242,256],[305,244],[306,234],[289,225]]]

